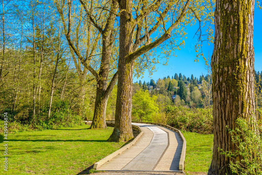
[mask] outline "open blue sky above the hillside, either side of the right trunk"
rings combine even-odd
[[[254,50],[255,50],[255,70],[261,72],[262,71],[262,9],[258,9],[255,7],[254,12]],[[150,79],[154,79],[155,81],[158,78],[163,78],[167,75],[174,76],[175,73],[182,73],[186,77],[191,77],[191,74],[194,77],[199,78],[200,75],[206,74],[207,71],[205,69],[205,61],[203,58],[199,58],[199,62],[194,62],[196,58],[196,52],[194,51],[194,45],[197,39],[197,36],[194,37],[194,34],[197,30],[197,26],[194,25],[192,27],[187,27],[187,39],[185,40],[184,48],[181,47],[181,50],[176,51],[177,57],[171,57],[168,61],[168,65],[157,64],[157,72],[154,72],[153,75],[149,77],[148,71],[145,71],[144,78],[141,76],[137,79],[134,77],[133,81],[141,80],[142,83],[145,80],[146,82],[150,82]],[[214,45],[210,43],[208,45],[206,42],[203,43],[203,53],[205,57],[211,56],[213,52]]]

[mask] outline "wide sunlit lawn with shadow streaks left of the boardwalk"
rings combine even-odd
[[[8,171],[5,174],[78,174],[119,149],[124,143],[107,142],[113,128],[89,125],[8,134]],[[0,174],[4,143],[0,135]]]

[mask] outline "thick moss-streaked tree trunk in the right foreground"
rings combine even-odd
[[[226,130],[236,119],[249,119],[254,106],[254,0],[216,1],[215,40],[211,60],[214,147],[208,174],[232,174],[227,158],[217,149],[236,150]],[[235,157],[237,161],[240,157]]]

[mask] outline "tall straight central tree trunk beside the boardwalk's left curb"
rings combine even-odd
[[[128,141],[133,138],[131,125],[133,61],[126,56],[133,51],[132,0],[120,0],[119,60],[115,126],[108,140]]]

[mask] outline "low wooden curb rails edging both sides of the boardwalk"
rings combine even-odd
[[[108,126],[114,126],[114,120],[107,120],[106,123]],[[181,133],[180,130],[173,128],[171,126],[165,125],[165,124],[160,124],[160,123],[152,123],[152,122],[138,122],[138,121],[132,121],[133,123],[145,123],[145,124],[154,124],[154,125],[159,125],[159,126],[163,126],[169,129],[172,129],[176,132],[179,133],[181,139],[183,140],[183,147],[182,147],[182,151],[181,151],[181,156],[180,156],[180,160],[179,160],[179,171],[183,171],[184,170],[184,162],[185,162],[185,151],[186,151],[186,141],[185,138],[183,136],[183,134]],[[106,156],[105,158],[103,158],[102,160],[96,162],[94,164],[94,169],[98,169],[100,166],[102,166],[104,163],[106,163],[107,161],[111,160],[112,158],[116,157],[118,154],[121,154],[125,149],[128,149],[131,145],[134,145],[134,143],[140,138],[140,136],[143,134],[143,132],[141,132],[140,128],[138,126],[132,125],[132,128],[135,130],[139,130],[140,134],[129,144],[125,145],[124,147],[120,148],[119,150],[113,152],[112,154],[110,154],[109,156]]]

